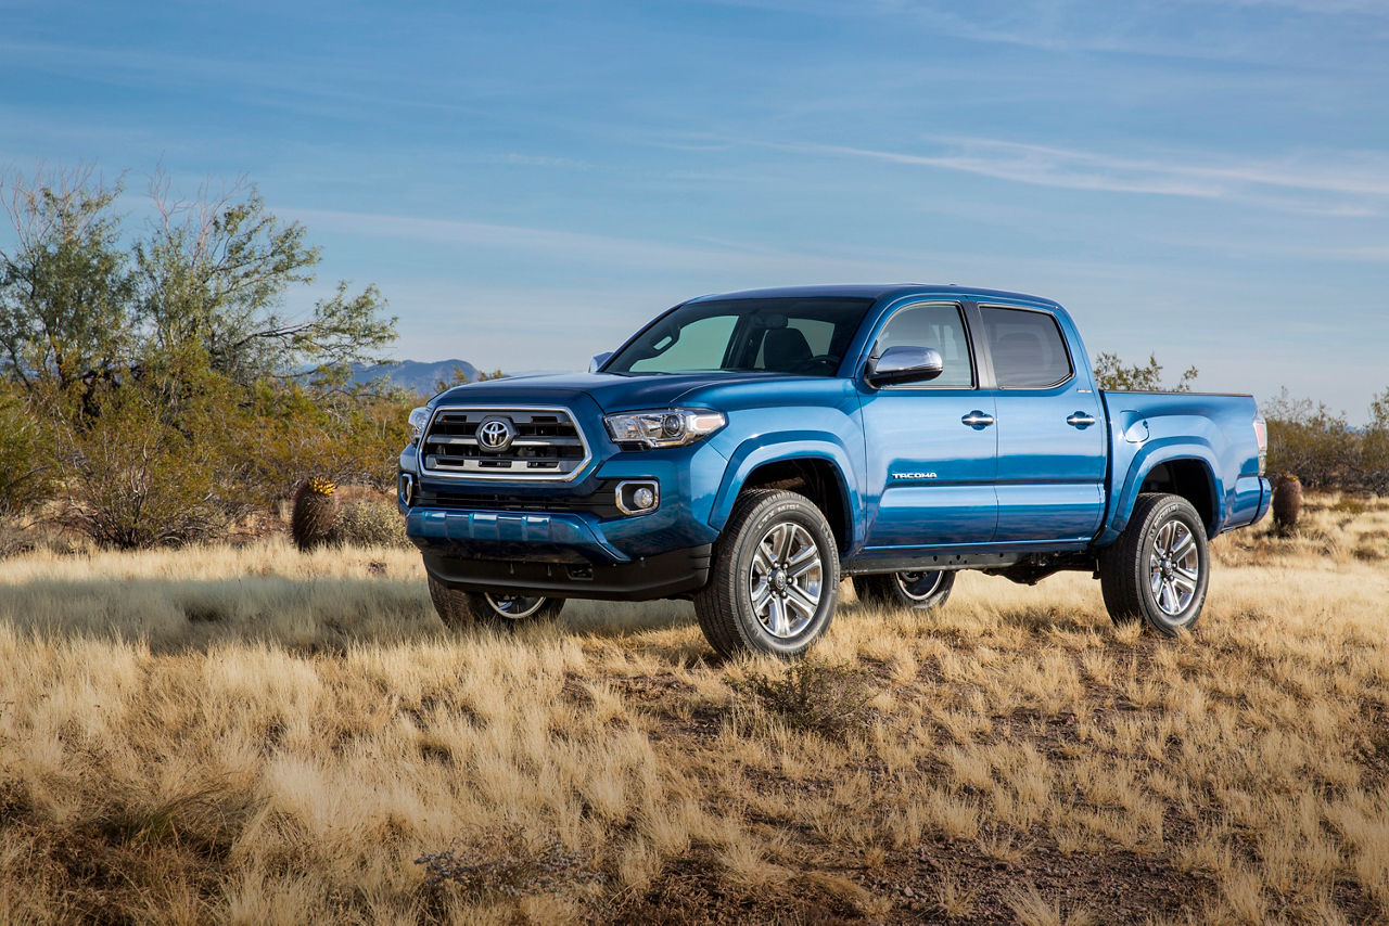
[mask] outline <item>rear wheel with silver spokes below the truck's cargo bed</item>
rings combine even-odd
[[[1142,494],[1124,533],[1100,551],[1100,591],[1114,623],[1142,619],[1174,636],[1206,603],[1206,525],[1181,496]]]

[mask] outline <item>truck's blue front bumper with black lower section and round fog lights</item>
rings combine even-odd
[[[401,451],[400,510],[429,573],[454,589],[613,600],[703,586],[728,461],[708,441],[622,451],[590,400],[561,404],[593,451],[568,480],[444,478],[419,466],[415,446]],[[622,511],[614,493],[625,480],[657,483],[658,505]]]

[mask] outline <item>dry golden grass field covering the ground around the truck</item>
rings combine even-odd
[[[0,561],[0,922],[1385,920],[1389,504],[1340,501],[1217,541],[1174,641],[1079,575],[850,598],[833,736],[686,604],[449,637],[393,548]]]

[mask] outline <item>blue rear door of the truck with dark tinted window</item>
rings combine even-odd
[[[1088,540],[1104,515],[1104,407],[1057,317],[979,305],[997,411],[995,540]]]

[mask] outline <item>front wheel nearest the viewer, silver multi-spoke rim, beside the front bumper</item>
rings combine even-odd
[[[694,596],[704,637],[722,655],[797,657],[820,639],[839,598],[839,548],[825,516],[795,491],[743,493]]]

